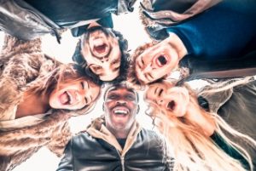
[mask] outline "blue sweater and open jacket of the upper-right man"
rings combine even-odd
[[[256,51],[254,0],[157,0],[142,7],[151,37],[163,40],[175,33],[182,40],[188,53],[179,65],[189,68],[190,79],[255,75],[255,53],[249,55]]]

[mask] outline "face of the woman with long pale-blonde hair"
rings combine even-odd
[[[159,105],[161,109],[171,111],[176,117],[183,117],[188,110],[189,91],[186,88],[173,87],[172,83],[150,85],[145,98]]]

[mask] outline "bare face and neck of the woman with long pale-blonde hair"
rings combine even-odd
[[[175,87],[173,83],[151,84],[146,91],[145,99],[154,102],[161,109],[168,111],[175,117],[185,117],[192,123],[199,125],[203,133],[211,136],[216,128],[215,121],[206,111],[201,110],[197,102],[190,99],[187,88]]]

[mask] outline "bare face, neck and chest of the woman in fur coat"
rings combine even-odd
[[[77,80],[73,83],[60,83],[49,95],[24,94],[18,105],[15,118],[42,114],[53,109],[78,110],[96,100],[100,87],[94,83]]]

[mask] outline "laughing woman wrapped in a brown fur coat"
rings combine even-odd
[[[61,156],[68,119],[92,109],[100,85],[78,66],[41,51],[41,40],[6,36],[0,56],[0,170],[11,170],[47,146]]]

